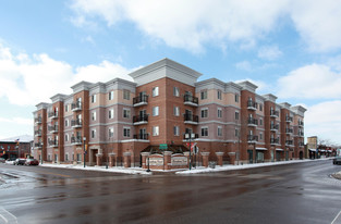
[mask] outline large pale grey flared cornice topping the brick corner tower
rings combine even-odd
[[[163,77],[169,77],[190,86],[194,86],[197,78],[202,74],[183,64],[166,58],[144,66],[135,72],[132,72],[129,75],[134,78],[134,82],[137,84],[137,86],[145,85]]]

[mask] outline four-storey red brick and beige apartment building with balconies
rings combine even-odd
[[[146,153],[162,154],[162,147],[188,158],[184,134],[193,133],[196,159],[204,163],[303,158],[303,107],[259,96],[249,82],[197,82],[200,75],[163,59],[131,73],[134,82],[81,82],[73,94],[36,105],[34,155],[54,163],[145,166]]]

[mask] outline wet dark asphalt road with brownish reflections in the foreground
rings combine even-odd
[[[340,170],[314,161],[144,176],[0,164],[0,223],[337,224],[341,181],[329,175]]]

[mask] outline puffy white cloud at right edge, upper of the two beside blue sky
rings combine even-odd
[[[290,72],[278,79],[280,98],[340,99],[341,73],[329,66],[310,64]]]

